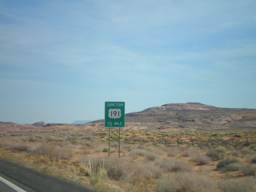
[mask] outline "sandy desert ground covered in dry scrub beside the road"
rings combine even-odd
[[[0,158],[97,191],[256,191],[256,133],[118,130],[0,134]]]

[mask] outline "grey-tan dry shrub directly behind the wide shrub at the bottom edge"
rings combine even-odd
[[[183,159],[172,159],[165,157],[160,162],[160,167],[168,172],[191,172],[192,166]]]

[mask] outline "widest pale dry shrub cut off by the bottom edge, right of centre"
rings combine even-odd
[[[176,173],[171,176],[165,175],[159,179],[156,186],[157,192],[196,192],[216,191],[214,183],[205,176],[195,173]]]

